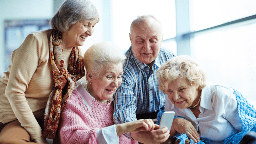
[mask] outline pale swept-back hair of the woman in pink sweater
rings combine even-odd
[[[110,41],[93,44],[84,54],[84,66],[86,71],[91,70],[92,77],[98,77],[105,66],[114,63],[124,63],[124,52]],[[87,77],[86,77],[87,79]]]

